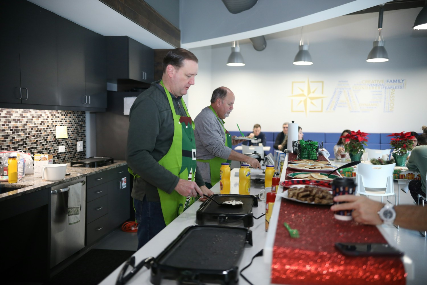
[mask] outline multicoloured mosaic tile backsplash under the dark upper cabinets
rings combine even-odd
[[[56,126],[67,126],[68,138],[56,138]],[[83,151],[77,152],[77,142]],[[64,153],[58,147],[65,146]],[[22,150],[53,155],[53,163],[86,157],[85,112],[0,108],[0,151]]]

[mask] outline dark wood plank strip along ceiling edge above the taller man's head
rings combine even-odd
[[[181,31],[143,0],[99,0],[174,47],[181,45]]]

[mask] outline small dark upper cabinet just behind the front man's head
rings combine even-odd
[[[107,36],[107,78],[154,81],[154,50],[127,36]]]

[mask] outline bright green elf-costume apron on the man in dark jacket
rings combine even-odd
[[[187,111],[187,106],[185,106],[182,98],[182,107],[184,108],[187,117],[176,114],[169,91],[164,87],[163,81],[161,81],[160,84],[166,92],[167,100],[169,101],[170,109],[172,110],[174,132],[173,141],[169,151],[158,161],[158,163],[179,178],[194,181],[196,177],[197,162],[193,120],[191,120]],[[134,174],[130,168],[128,168],[128,170],[134,178],[140,177],[138,174]],[[184,197],[175,190],[173,190],[171,194],[168,194],[159,188],[157,188],[157,191],[160,197],[161,209],[166,225],[172,222],[176,217],[178,217],[178,215],[184,212],[185,209],[196,201],[196,197]]]

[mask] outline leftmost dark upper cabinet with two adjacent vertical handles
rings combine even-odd
[[[1,1],[0,101],[56,105],[58,15],[25,0]]]

